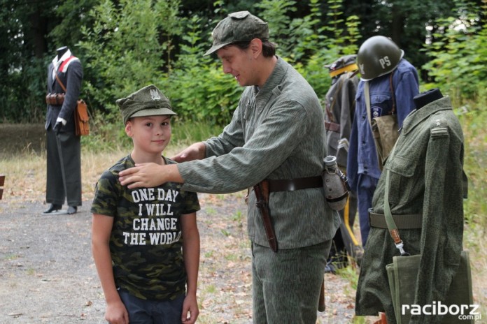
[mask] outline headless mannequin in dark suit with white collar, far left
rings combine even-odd
[[[56,74],[57,78],[56,78]],[[59,79],[59,80],[58,80]],[[63,86],[59,84],[62,82]],[[64,94],[63,102],[48,101],[45,117],[47,181],[45,201],[50,203],[43,214],[59,214],[67,201],[68,214],[81,205],[81,146],[76,135],[74,110],[78,103],[83,66],[68,47],[57,49],[48,67],[48,94]]]

